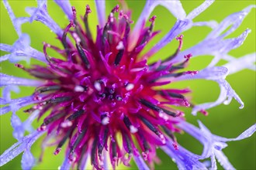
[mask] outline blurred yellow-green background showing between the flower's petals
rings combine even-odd
[[[182,1],[182,5],[187,13],[191,12],[193,8],[200,5],[202,1]],[[16,16],[28,16],[24,10],[27,6],[36,6],[35,1],[9,1],[12,6],[13,11]],[[95,36],[95,26],[97,24],[97,16],[95,12],[95,5],[93,1],[71,1],[71,5],[74,5],[77,9],[78,15],[84,15],[85,5],[89,4],[92,8],[92,14],[89,15],[89,24],[92,32]],[[115,1],[106,1],[106,11],[110,12],[111,8],[116,5]],[[128,1],[129,8],[133,11],[132,19],[136,22],[140,12],[144,8],[144,1]],[[233,12],[238,12],[241,9],[247,7],[247,5],[255,4],[255,1],[216,1],[211,5],[205,12],[195,18],[194,21],[209,21],[216,20],[217,22],[222,21],[227,15]],[[64,17],[64,13],[61,12],[61,8],[52,2],[48,2],[48,9],[50,15],[53,19],[64,28],[68,24],[68,20]],[[161,30],[161,34],[156,36],[153,42],[147,46],[150,49],[154,44],[161,39],[174,25],[175,18],[162,6],[155,8],[152,15],[157,15],[157,21],[155,25],[155,30]],[[148,23],[147,23],[148,25]],[[134,26],[134,24],[133,24]],[[12,44],[16,41],[18,36],[12,27],[12,22],[9,19],[4,5],[1,2],[1,43]],[[255,9],[252,9],[251,13],[247,15],[244,19],[242,25],[230,37],[235,37],[240,35],[245,29],[250,28],[252,32],[247,37],[244,45],[238,49],[234,49],[230,52],[232,56],[244,56],[247,53],[253,53],[255,51]],[[194,27],[189,29],[189,31],[184,32],[184,46],[183,49],[187,49],[190,46],[194,46],[196,43],[204,39],[211,29],[206,27]],[[22,26],[22,32],[27,32],[31,37],[31,44],[34,48],[42,51],[42,42],[48,42],[54,44],[55,46],[61,46],[60,42],[55,39],[53,32],[43,26],[40,22],[33,22],[32,24],[26,23]],[[161,49],[155,56],[154,59],[161,58],[162,56],[168,56],[175,52],[177,49],[178,42],[173,41]],[[1,56],[5,53],[1,52]],[[53,51],[49,51],[50,56],[57,55]],[[195,59],[191,59],[189,65],[189,70],[201,70],[210,60],[213,59],[212,56],[199,56]],[[23,62],[22,62],[23,63]],[[36,63],[36,61],[31,60],[31,63]],[[220,61],[219,65],[225,63]],[[23,63],[26,65],[26,63]],[[241,63],[242,64],[242,63]],[[30,77],[26,73],[20,71],[12,63],[8,61],[1,63],[2,73],[9,73],[15,76]],[[240,95],[240,98],[244,100],[245,107],[240,110],[237,101],[233,100],[228,106],[220,105],[209,110],[209,116],[205,117],[198,114],[196,117],[192,116],[190,109],[185,109],[185,117],[187,121],[192,124],[197,125],[197,120],[201,120],[202,123],[206,125],[214,134],[219,134],[220,136],[234,138],[237,137],[242,131],[255,123],[255,73],[251,70],[243,70],[240,73],[227,76],[227,80],[230,85],[236,90]],[[170,87],[190,87],[192,89],[192,101],[195,104],[200,104],[203,102],[209,102],[216,100],[219,95],[219,87],[216,83],[206,80],[190,80],[182,83],[171,84]],[[22,97],[27,96],[33,92],[32,88],[22,87],[21,93],[12,93],[12,97]],[[26,114],[19,111],[17,113],[21,117],[22,121],[26,120]],[[5,149],[9,148],[12,144],[16,142],[16,139],[12,138],[12,127],[10,125],[11,113],[1,116],[1,148],[2,153]],[[38,126],[40,123],[35,123]],[[194,138],[190,137],[188,134],[177,134],[178,143],[188,148],[190,151],[194,151],[197,154],[202,153],[202,145],[199,144]],[[40,155],[40,142],[36,141],[33,145],[33,154],[38,158]],[[230,162],[237,169],[255,169],[255,135],[251,138],[244,139],[243,141],[234,141],[228,143],[229,147],[225,148],[223,151],[229,158]],[[61,151],[60,155],[53,155],[54,147],[47,148],[45,155],[43,157],[43,162],[36,165],[34,169],[57,169],[64,159],[64,151]],[[176,169],[176,165],[171,161],[163,151],[157,151],[159,157],[161,158],[161,164],[156,165],[156,169]],[[1,169],[20,169],[21,155],[15,158],[12,162],[1,167]],[[219,165],[220,167],[220,165]],[[119,169],[123,169],[122,166]],[[137,167],[132,164],[132,168]],[[221,169],[221,168],[220,168]]]

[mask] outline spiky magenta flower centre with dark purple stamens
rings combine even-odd
[[[80,164],[85,153],[91,153],[92,165],[101,168],[102,155],[109,152],[115,167],[118,160],[129,165],[131,155],[142,153],[148,162],[156,162],[155,149],[171,137],[177,147],[173,117],[182,115],[173,106],[189,107],[183,96],[189,90],[161,89],[171,83],[170,78],[197,72],[181,72],[192,56],[184,62],[164,66],[161,61],[147,64],[140,52],[157,32],[154,32],[153,16],[150,26],[140,32],[136,46],[129,50],[130,15],[119,12],[117,5],[110,12],[104,28],[97,28],[96,39],[88,29],[87,5],[84,23],[76,19],[70,22],[62,37],[64,49],[44,43],[43,52],[47,66],[24,68],[31,75],[44,80],[34,92],[34,105],[27,112],[40,110],[40,117],[47,114],[38,131],[56,135],[57,155],[65,142],[69,142],[67,155],[71,162]],[[116,17],[116,13],[119,13]],[[175,58],[182,48],[166,60]],[[51,48],[62,59],[47,55]],[[166,61],[165,60],[165,61]],[[120,138],[121,137],[121,138]]]

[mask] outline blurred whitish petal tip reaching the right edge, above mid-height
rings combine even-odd
[[[254,68],[256,62],[256,53],[247,54],[240,58],[233,58],[229,63],[223,65],[229,70],[229,75],[232,73],[237,73],[240,70]]]

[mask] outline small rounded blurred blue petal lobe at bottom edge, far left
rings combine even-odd
[[[24,170],[30,170],[36,164],[36,159],[33,157],[29,148],[23,152],[21,164]]]

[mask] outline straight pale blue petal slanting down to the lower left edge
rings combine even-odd
[[[13,158],[16,158],[22,151],[28,149],[33,145],[33,143],[40,138],[40,136],[45,131],[34,131],[33,134],[29,134],[26,137],[22,138],[21,141],[18,141],[16,144],[12,145],[11,148],[7,149],[0,156],[0,166],[5,165],[6,163],[12,161]]]

